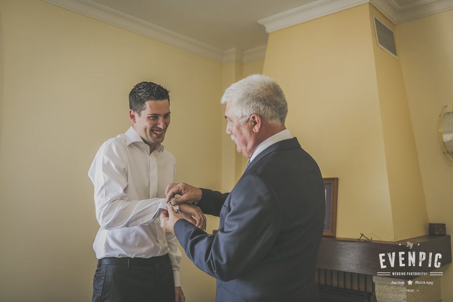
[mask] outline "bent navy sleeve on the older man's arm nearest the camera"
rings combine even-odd
[[[244,176],[223,205],[216,236],[180,219],[174,230],[187,256],[205,273],[228,281],[251,269],[272,247],[281,229],[280,203],[256,175]],[[222,224],[221,224],[222,225]]]

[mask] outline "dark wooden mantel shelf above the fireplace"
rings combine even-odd
[[[407,243],[413,244],[412,249]],[[401,244],[401,245],[400,245]],[[390,266],[388,253],[395,252],[395,266]],[[406,266],[399,266],[399,252],[404,252]],[[415,252],[416,266],[408,266],[408,252]],[[419,265],[419,252],[426,253],[426,260]],[[381,268],[379,254],[385,254],[385,265]],[[429,253],[432,253],[431,266],[429,267]],[[348,238],[323,237],[318,252],[317,267],[321,269],[345,271],[366,275],[377,275],[378,272],[430,272],[441,271],[434,267],[434,257],[439,253],[440,267],[451,263],[450,235],[425,235],[396,242],[390,241],[357,241]],[[392,278],[413,279],[413,275],[392,275]]]

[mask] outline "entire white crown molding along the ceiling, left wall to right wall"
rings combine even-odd
[[[243,63],[246,63],[263,59],[266,53],[266,46],[260,46],[245,51],[237,48],[222,50],[155,24],[121,13],[109,7],[100,5],[91,0],[42,1],[218,62],[242,61]],[[419,0],[413,4],[405,6],[399,6],[395,0],[318,0],[311,4],[258,20],[258,23],[264,25],[266,27],[266,31],[271,33],[295,24],[327,16],[365,3],[371,3],[374,5],[395,24],[453,9],[453,2],[451,0]]]

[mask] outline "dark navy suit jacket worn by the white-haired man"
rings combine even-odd
[[[184,219],[174,229],[193,263],[217,278],[217,302],[319,300],[324,186],[296,138],[260,153],[231,193],[202,192],[203,212],[220,217],[216,236]]]

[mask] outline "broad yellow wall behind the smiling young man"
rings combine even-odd
[[[41,1],[2,0],[0,15],[0,300],[88,301],[99,226],[87,173],[129,127],[130,89],[170,89],[177,181],[220,189],[222,64]],[[188,301],[214,299],[187,258],[182,280]]]

